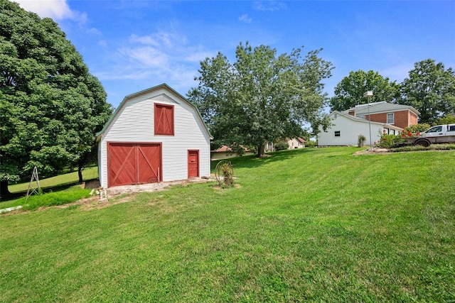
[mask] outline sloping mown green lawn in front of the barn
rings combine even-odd
[[[0,215],[0,302],[454,302],[455,151],[231,159],[239,187]]]

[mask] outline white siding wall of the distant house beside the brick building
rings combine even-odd
[[[318,135],[318,145],[330,146],[330,145],[357,145],[358,136],[361,134],[367,139],[365,145],[370,145],[370,130],[368,127],[368,120],[358,121],[349,119],[346,116],[337,114],[336,118],[333,118],[331,114],[332,123],[334,124],[327,129],[326,132],[320,128]],[[371,122],[371,141],[373,143],[379,141],[380,133],[382,133],[382,123]],[[335,136],[335,131],[340,131],[340,136]]]

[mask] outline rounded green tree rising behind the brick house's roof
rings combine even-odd
[[[341,79],[334,90],[334,96],[330,100],[332,111],[346,111],[358,104],[368,103],[363,97],[367,91],[373,91],[370,101],[394,102],[400,97],[400,88],[396,82],[387,77],[382,77],[378,72],[369,70],[364,72],[350,72],[347,77]]]

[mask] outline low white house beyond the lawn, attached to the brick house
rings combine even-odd
[[[365,145],[370,145],[370,126],[371,141],[379,141],[383,131],[386,133],[398,134],[402,128],[387,123],[371,121],[348,114],[347,112],[333,111],[330,115],[333,124],[327,131],[319,127],[318,145],[357,145],[358,136],[366,138]]]

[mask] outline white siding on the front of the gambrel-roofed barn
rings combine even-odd
[[[174,136],[154,136],[154,102],[174,106]],[[165,88],[127,99],[102,134],[100,183],[107,187],[107,143],[162,143],[163,181],[188,178],[188,150],[199,150],[199,175],[210,175],[210,138],[196,110]]]

